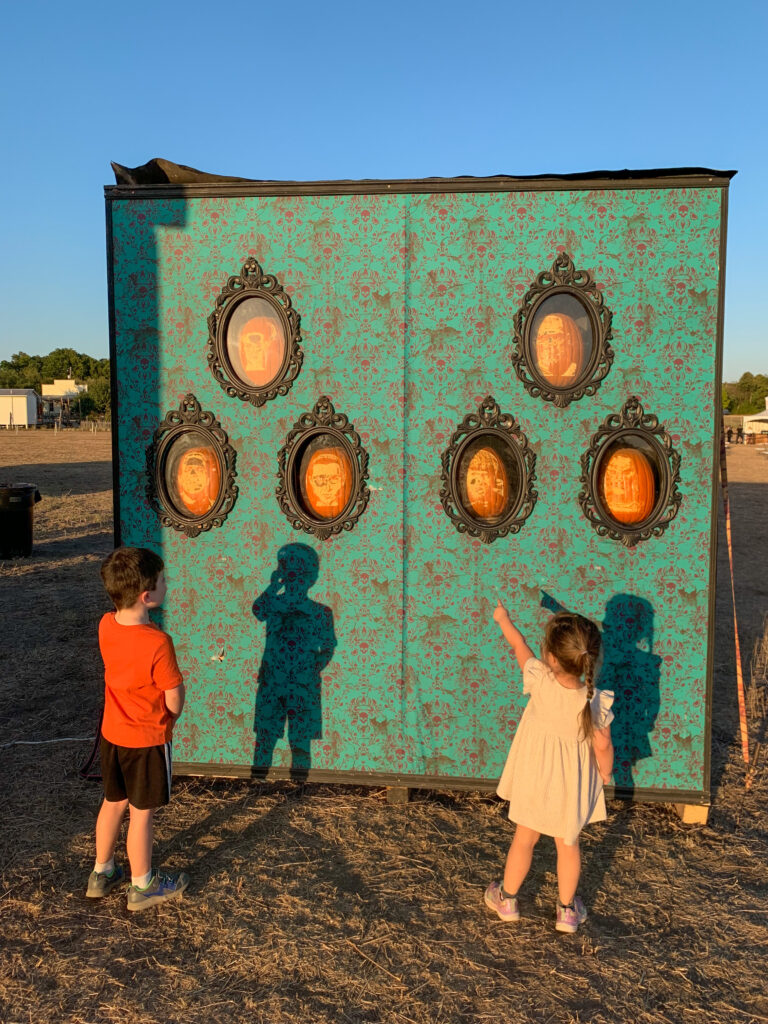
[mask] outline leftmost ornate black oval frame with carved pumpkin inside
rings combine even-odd
[[[238,497],[236,461],[213,413],[184,395],[146,449],[146,497],[161,524],[187,537],[221,526]]]

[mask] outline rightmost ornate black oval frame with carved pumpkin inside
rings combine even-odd
[[[640,456],[632,456],[631,453]],[[606,475],[613,459],[640,458],[650,469],[648,482],[652,480],[653,498],[648,502],[650,511],[641,518],[629,521],[625,511],[611,514],[610,500],[606,496]],[[648,469],[642,467],[647,475]],[[631,471],[632,467],[630,467]],[[659,425],[655,416],[646,414],[639,398],[632,396],[624,403],[622,412],[611,414],[592,436],[589,449],[582,455],[582,490],[579,503],[588,521],[600,537],[620,541],[626,548],[632,548],[640,541],[660,537],[677,515],[682,496],[680,483],[680,455],[672,446],[672,438]],[[633,481],[635,493],[644,490],[643,480]],[[620,515],[621,518],[616,518]]]

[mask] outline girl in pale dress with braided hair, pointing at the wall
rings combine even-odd
[[[518,921],[517,891],[528,873],[539,837],[557,847],[558,932],[575,932],[587,920],[577,896],[581,873],[579,834],[604,821],[603,783],[610,781],[613,694],[595,689],[600,653],[597,626],[583,615],[558,612],[544,637],[542,660],[534,656],[502,602],[494,611],[522,669],[528,703],[517,726],[497,793],[509,801],[517,823],[504,881],[485,890],[485,903],[502,921]]]

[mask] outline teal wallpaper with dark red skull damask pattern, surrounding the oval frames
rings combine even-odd
[[[437,186],[436,186],[437,187]],[[615,782],[707,796],[708,624],[720,187],[114,199],[110,203],[124,544],[166,561],[162,623],[187,683],[175,759],[486,784],[523,707],[492,621],[497,595],[538,647],[551,609],[601,624],[615,690]],[[525,292],[560,253],[612,312],[614,359],[594,396],[535,398],[511,362]],[[261,408],[206,362],[207,317],[255,257],[301,317],[303,365]],[[189,538],[147,505],[145,452],[194,394],[237,452],[220,528]],[[327,395],[369,455],[353,529],[294,530],[278,454]],[[536,454],[519,532],[483,544],[439,498],[440,457],[493,395]],[[578,496],[583,452],[636,395],[680,454],[682,504],[662,537],[600,538]]]

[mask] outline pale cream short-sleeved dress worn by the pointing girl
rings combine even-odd
[[[529,699],[496,792],[509,801],[511,821],[573,846],[586,824],[606,817],[592,743],[580,738],[587,687],[566,689],[543,662],[529,657],[522,691]],[[612,703],[610,690],[595,690],[591,708],[597,728],[613,721]]]

